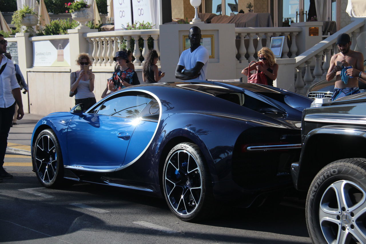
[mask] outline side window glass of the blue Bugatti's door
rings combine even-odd
[[[142,92],[120,93],[101,104],[97,114],[137,118],[152,97]]]

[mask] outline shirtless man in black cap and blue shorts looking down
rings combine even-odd
[[[363,55],[361,52],[351,50],[351,38],[348,34],[340,34],[337,37],[336,45],[340,52],[333,55],[330,59],[330,67],[328,74],[326,74],[326,80],[328,81],[337,75],[332,101],[340,97],[360,93],[358,89],[358,77],[350,78],[347,75],[346,69],[343,69],[343,67],[352,66],[357,70],[363,71]],[[342,63],[341,66],[343,67],[337,65],[338,61]],[[345,72],[343,79],[342,72]]]

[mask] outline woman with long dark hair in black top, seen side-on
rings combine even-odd
[[[158,59],[158,53],[154,49],[147,54],[146,62],[142,69],[142,79],[145,83],[156,83],[164,77],[165,72],[159,74],[158,66],[156,65]]]

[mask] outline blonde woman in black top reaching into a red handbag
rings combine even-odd
[[[277,79],[278,64],[276,64],[275,55],[271,49],[264,47],[258,51],[260,62],[253,63],[250,67],[242,70],[242,74],[248,75],[252,70],[262,71],[267,78],[267,85],[273,86],[273,81]]]

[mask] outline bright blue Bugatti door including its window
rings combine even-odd
[[[150,100],[139,92],[117,93],[73,117],[67,133],[70,166],[94,171],[122,166],[136,118]]]

